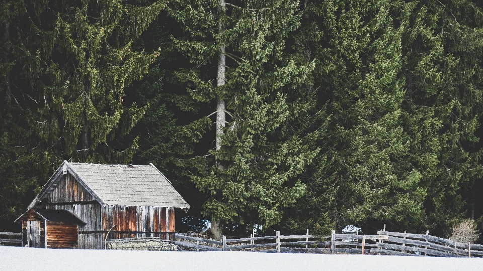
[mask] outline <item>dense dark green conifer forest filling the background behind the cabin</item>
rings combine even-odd
[[[483,226],[479,2],[1,5],[0,230],[64,159],[154,163],[183,230]]]

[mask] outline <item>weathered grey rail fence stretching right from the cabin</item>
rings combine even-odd
[[[466,244],[429,234],[378,231],[378,235],[339,234],[261,236],[220,241],[175,234],[176,245],[199,250],[249,250],[260,252],[315,252],[389,254],[413,256],[483,256],[483,245]],[[328,240],[330,238],[330,240]],[[303,247],[305,246],[305,247]]]

